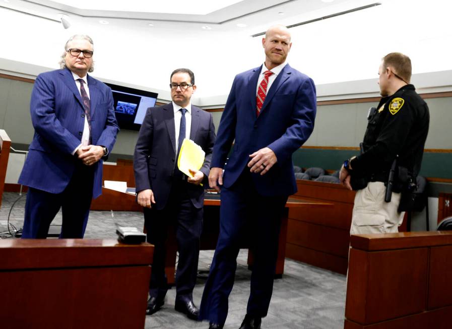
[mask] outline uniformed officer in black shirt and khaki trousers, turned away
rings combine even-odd
[[[415,188],[428,133],[428,106],[410,84],[410,58],[400,52],[384,56],[378,75],[383,97],[368,115],[362,153],[344,162],[339,177],[358,190],[350,234],[398,232],[401,195]],[[385,202],[387,185],[393,188]]]

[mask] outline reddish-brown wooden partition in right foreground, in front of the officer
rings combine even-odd
[[[452,232],[352,235],[345,329],[452,327]]]

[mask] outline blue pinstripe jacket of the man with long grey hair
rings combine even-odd
[[[91,103],[93,145],[112,150],[119,130],[111,89],[87,77]],[[50,193],[61,193],[69,184],[77,159],[71,153],[80,145],[85,111],[71,71],[40,74],[31,94],[31,120],[35,129],[19,183]],[[93,165],[93,197],[102,192],[102,160]]]

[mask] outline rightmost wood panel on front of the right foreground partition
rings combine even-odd
[[[428,309],[452,305],[452,245],[430,249],[429,273]]]

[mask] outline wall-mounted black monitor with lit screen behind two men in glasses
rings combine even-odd
[[[157,93],[105,83],[113,93],[113,107],[119,128],[140,130],[148,107],[155,106]]]

